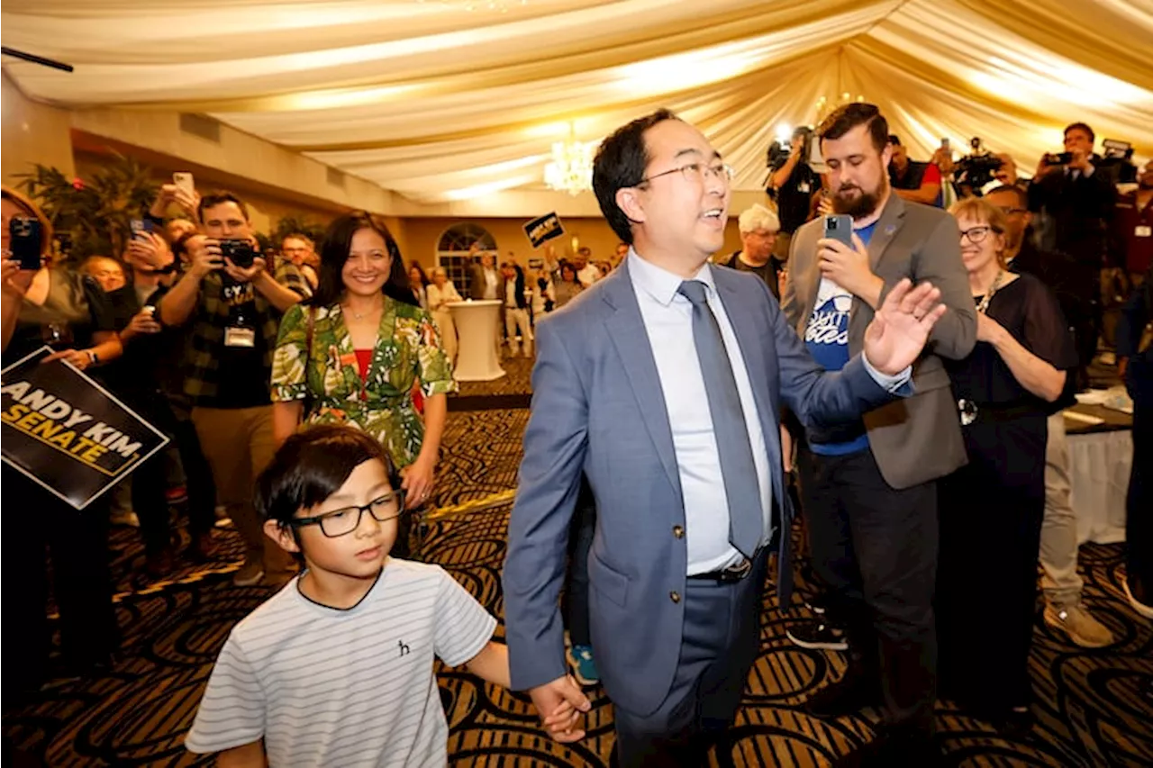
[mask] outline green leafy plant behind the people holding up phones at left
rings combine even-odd
[[[131,238],[131,220],[144,216],[159,189],[148,166],[120,155],[88,180],[40,164],[17,176],[17,186],[44,210],[61,250],[74,262],[96,254],[120,257]]]

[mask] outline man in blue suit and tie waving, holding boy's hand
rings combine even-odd
[[[826,374],[763,281],[708,264],[724,242],[730,178],[704,136],[668,111],[618,129],[601,144],[593,187],[632,249],[537,326],[504,570],[512,683],[542,713],[563,700],[587,707],[565,676],[557,607],[583,473],[597,507],[593,648],[621,766],[702,765],[758,654],[773,549],[787,602],[781,406],[828,427],[905,393],[944,310],[936,288],[902,281],[864,354]]]

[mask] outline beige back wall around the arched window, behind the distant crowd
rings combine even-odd
[[[508,251],[513,251],[513,257],[522,266],[528,265],[528,259],[534,258],[543,250],[534,250],[525,236],[522,225],[527,219],[504,219],[504,218],[406,218],[404,220],[407,234],[407,249],[401,248],[406,259],[415,258],[424,268],[430,268],[436,263],[436,246],[440,235],[453,224],[468,221],[476,224],[489,231],[497,241],[500,258],[505,258]],[[550,242],[555,244],[557,255],[567,257],[572,255],[572,241],[575,238],[580,247],[588,247],[593,250],[593,258],[596,261],[609,259],[617,250],[620,241],[616,233],[609,227],[603,218],[562,218],[565,227],[565,235]],[[740,248],[740,236],[737,233],[736,218],[729,219],[725,229],[725,243],[723,253],[732,253]]]

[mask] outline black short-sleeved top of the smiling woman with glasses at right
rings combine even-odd
[[[1077,367],[1076,347],[1061,306],[1053,292],[1033,276],[1022,274],[997,291],[989,301],[987,314],[1023,347],[1057,370]],[[1057,402],[1047,402],[1022,386],[987,341],[978,341],[964,360],[947,360],[945,367],[957,397],[978,407],[1032,407],[1038,414],[1048,415],[1067,401],[1067,397],[1062,397]],[[1067,377],[1067,393],[1070,391],[1068,382],[1073,378]]]

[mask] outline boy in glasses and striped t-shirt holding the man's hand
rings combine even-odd
[[[389,558],[400,477],[347,427],[289,437],[257,481],[265,533],[302,573],[233,627],[189,751],[217,765],[444,766],[449,726],[434,657],[508,686],[492,618],[437,565]],[[574,686],[575,687],[575,686]],[[588,700],[545,718],[563,740]]]

